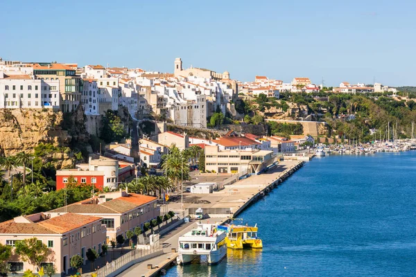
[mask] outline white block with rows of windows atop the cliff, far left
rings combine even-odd
[[[0,72],[0,108],[60,108],[60,81]]]

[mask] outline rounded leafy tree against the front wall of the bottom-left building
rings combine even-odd
[[[29,262],[33,266],[40,266],[48,258],[49,248],[37,238],[28,238],[16,242],[15,254],[21,256],[21,260]]]

